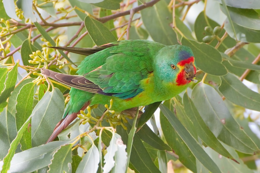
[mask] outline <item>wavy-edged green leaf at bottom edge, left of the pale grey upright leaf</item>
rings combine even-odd
[[[48,173],[70,172],[69,164],[72,163],[71,148],[73,144],[61,146],[57,149],[51,159]]]

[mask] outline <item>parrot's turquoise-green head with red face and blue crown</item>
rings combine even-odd
[[[195,59],[191,48],[182,45],[167,46],[156,58],[160,80],[174,85],[187,85],[196,76]]]

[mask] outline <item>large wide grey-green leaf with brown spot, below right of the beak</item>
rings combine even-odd
[[[192,101],[212,133],[225,144],[243,153],[259,153],[258,147],[231,116],[222,98],[211,86],[198,83]]]

